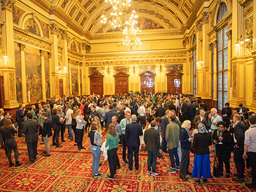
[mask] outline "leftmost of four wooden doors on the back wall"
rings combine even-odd
[[[102,97],[103,95],[103,75],[99,73],[94,73],[90,77],[90,93],[95,93]]]

